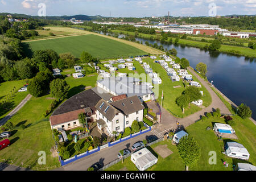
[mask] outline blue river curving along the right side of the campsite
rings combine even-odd
[[[123,36],[119,35],[119,38]],[[254,80],[256,79],[256,59],[209,52],[188,46],[162,44],[157,40],[135,39],[143,44],[146,41],[150,44],[157,43],[168,50],[175,48],[177,56],[180,59],[182,57],[188,59],[192,68],[196,68],[196,64],[200,62],[207,64],[208,80],[213,81],[213,85],[236,105],[244,103],[249,106],[253,111],[252,117],[256,119],[256,82]]]

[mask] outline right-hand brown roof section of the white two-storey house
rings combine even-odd
[[[124,98],[122,100],[111,102],[110,104],[125,115],[145,109],[137,96]]]

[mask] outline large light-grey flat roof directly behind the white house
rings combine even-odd
[[[104,85],[117,95],[127,94],[127,97],[131,96],[144,96],[146,94],[153,93],[152,90],[146,85],[134,84],[133,82],[140,82],[138,78],[133,77],[109,77],[97,82]]]

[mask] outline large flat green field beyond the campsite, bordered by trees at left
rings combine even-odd
[[[53,49],[57,53],[71,52],[75,57],[80,57],[82,51],[90,53],[98,59],[111,59],[145,55],[146,52],[127,44],[97,35],[81,35],[67,38],[39,40],[23,43],[24,51],[31,56],[31,50]]]

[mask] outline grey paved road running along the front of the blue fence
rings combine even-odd
[[[57,171],[65,170],[65,171],[86,171],[92,164],[96,162],[100,162],[103,165],[106,165],[113,160],[117,159],[117,154],[120,150],[123,150],[125,148],[129,148],[131,151],[131,146],[135,142],[143,141],[148,136],[152,135],[155,136],[155,133],[152,133],[152,131],[149,131],[148,133],[139,135],[138,137],[132,138],[130,140],[126,140],[125,142],[116,144],[115,146],[105,148],[99,152],[96,152],[95,154],[86,156],[85,158],[79,159],[73,163],[67,164],[61,168],[57,168]]]

